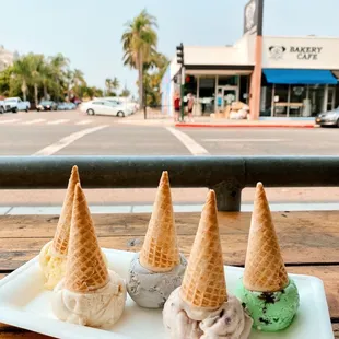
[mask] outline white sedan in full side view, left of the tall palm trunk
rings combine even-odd
[[[116,117],[125,117],[130,114],[125,107],[104,100],[94,100],[82,103],[80,110],[87,115],[112,115]]]

